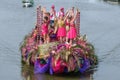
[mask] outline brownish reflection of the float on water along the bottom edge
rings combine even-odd
[[[21,75],[23,80],[93,80],[93,72],[89,71],[84,74],[59,74],[49,75],[46,74],[34,74],[33,67],[24,65],[21,69]]]

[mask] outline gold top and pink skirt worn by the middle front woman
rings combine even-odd
[[[62,21],[62,20],[58,21],[57,36],[58,37],[65,37],[66,36],[66,29],[64,27],[64,21]]]

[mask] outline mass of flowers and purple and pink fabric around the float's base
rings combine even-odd
[[[35,73],[45,73],[48,70],[51,70],[50,74],[83,73],[98,64],[94,47],[87,42],[85,36],[77,37],[75,45],[51,42],[41,45],[31,44],[30,49],[27,47],[27,43],[31,40],[28,39],[29,37],[25,37],[21,45],[22,60],[29,65],[32,63]],[[43,68],[45,69],[41,71]]]

